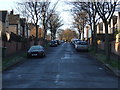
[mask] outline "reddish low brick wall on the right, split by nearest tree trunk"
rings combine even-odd
[[[100,42],[98,44],[98,48],[104,50],[105,48],[104,44],[105,44],[104,42]],[[111,42],[111,52],[120,56],[120,42],[115,41]]]

